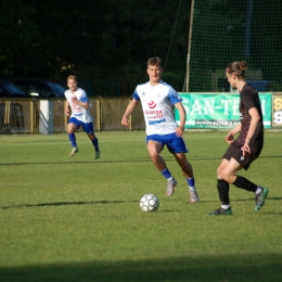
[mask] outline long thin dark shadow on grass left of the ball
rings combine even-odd
[[[44,207],[44,206],[68,206],[68,205],[97,205],[97,204],[120,204],[124,201],[92,201],[92,202],[57,202],[57,203],[39,203],[39,204],[23,204],[23,205],[12,205],[12,206],[1,206],[2,209],[8,208],[22,208],[22,207]]]

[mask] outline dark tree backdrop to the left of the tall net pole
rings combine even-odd
[[[179,74],[171,82],[184,79],[190,1],[180,1],[178,18],[178,1],[2,2],[1,75],[60,80],[75,74],[80,80],[119,81],[127,92],[146,80],[146,60],[157,55],[163,63],[168,56],[167,69]]]

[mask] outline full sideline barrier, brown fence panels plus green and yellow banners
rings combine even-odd
[[[229,92],[179,93],[187,111],[185,128],[229,129],[240,121],[239,94]],[[282,128],[282,92],[261,92],[265,128]],[[65,132],[67,116],[65,99],[1,99],[0,133]],[[141,104],[130,117],[130,126],[120,125],[130,98],[89,98],[90,113],[94,118],[95,131],[144,130]],[[175,116],[179,123],[179,113]],[[40,127],[41,125],[41,127]],[[81,130],[81,129],[79,129]]]

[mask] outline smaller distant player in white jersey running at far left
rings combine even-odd
[[[76,136],[75,131],[82,127],[85,132],[90,138],[93,146],[94,146],[94,158],[100,157],[100,150],[98,138],[94,134],[94,127],[93,127],[93,118],[89,113],[89,100],[86,94],[86,91],[81,88],[77,87],[77,78],[76,76],[68,76],[67,77],[67,87],[68,90],[65,91],[65,114],[69,116],[69,107],[72,108],[72,115],[67,124],[67,134],[68,139],[72,143],[73,150],[69,156],[74,156],[75,153],[78,152],[78,146],[76,143]]]

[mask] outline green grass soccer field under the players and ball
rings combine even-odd
[[[233,215],[218,208],[216,169],[227,132],[188,131],[188,159],[200,203],[172,155],[162,156],[178,180],[153,166],[144,131],[97,132],[101,158],[77,133],[68,157],[66,134],[0,136],[0,281],[282,281],[282,132],[266,131],[265,148],[246,176],[269,189],[255,211],[254,194],[231,187]],[[159,198],[143,213],[145,193]]]

